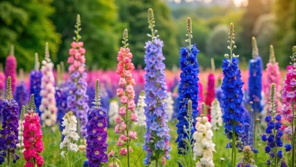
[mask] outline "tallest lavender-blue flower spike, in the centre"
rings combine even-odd
[[[165,64],[163,60],[163,41],[154,30],[154,13],[148,10],[148,23],[151,38],[145,46],[145,116],[147,132],[145,133],[145,145],[147,152],[144,164],[149,165],[155,161],[154,166],[165,163],[165,158],[170,159],[170,129],[167,126],[167,85],[165,83]]]

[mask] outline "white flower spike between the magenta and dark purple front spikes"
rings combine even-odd
[[[65,116],[63,117],[63,129],[62,134],[65,136],[62,143],[60,143],[60,149],[65,148],[60,155],[65,157],[68,151],[77,152],[78,145],[75,141],[78,141],[79,135],[77,134],[77,119],[74,116],[72,111],[68,111]]]

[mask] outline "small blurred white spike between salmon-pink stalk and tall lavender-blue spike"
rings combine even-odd
[[[144,99],[145,99],[145,92],[142,90],[138,98],[137,106],[135,106],[135,113],[137,113],[138,115],[138,122],[135,122],[135,124],[139,126],[146,125],[146,122],[145,122],[146,116],[144,114],[144,107],[146,106],[146,103]]]

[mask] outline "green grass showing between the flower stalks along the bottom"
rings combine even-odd
[[[174,142],[176,140],[176,120],[172,120],[169,122],[170,126],[170,135],[172,137],[170,141],[170,145],[172,147],[172,150],[170,152],[171,159],[166,161],[166,166],[170,167],[177,167],[176,164],[177,159],[181,158],[181,155],[177,154],[177,148],[176,143]],[[265,123],[263,122],[263,125]],[[61,166],[66,167],[67,162],[60,156],[60,141],[61,141],[61,134],[58,130],[58,125],[54,127],[56,130],[53,132],[49,128],[42,128],[43,132],[43,143],[44,143],[44,152],[42,152],[42,157],[44,158],[44,166]],[[263,127],[264,128],[264,127]],[[133,148],[133,152],[131,153],[131,166],[140,167],[144,166],[143,159],[145,158],[145,151],[142,150],[142,145],[144,144],[144,134],[145,134],[145,127],[133,127],[132,129],[135,129],[136,132],[138,132],[138,139],[133,141],[131,143],[131,147]],[[261,132],[263,130],[261,129]],[[108,152],[112,150],[116,146],[116,140],[119,137],[118,134],[115,134],[114,128],[110,127],[108,128]],[[266,143],[261,141],[261,135],[256,133],[256,145],[255,148],[259,151],[258,154],[254,156],[256,160],[257,166],[266,166],[265,161],[268,159],[268,154],[265,154],[264,148]],[[214,132],[213,136],[213,143],[215,143],[215,150],[217,152],[214,153],[214,163],[215,166],[221,166],[220,158],[224,158],[225,161],[223,162],[223,166],[231,166],[231,149],[225,148],[229,140],[224,135],[224,128],[220,128],[219,131]],[[285,142],[284,142],[285,143]],[[118,158],[122,162],[122,167],[125,167],[126,165],[126,157],[122,157],[119,154],[119,149],[117,149],[117,152],[115,154],[118,155]],[[140,159],[138,157],[142,154]],[[24,166],[24,155],[22,153],[19,153],[20,159],[17,161],[16,164],[11,164],[11,166]],[[284,154],[284,159],[287,159],[290,154]],[[238,153],[236,162],[240,161],[242,158],[242,153]],[[86,160],[85,152],[79,151],[75,154],[75,164],[74,166],[83,166],[83,161]],[[138,161],[137,161],[138,159]],[[135,164],[135,161],[137,163]],[[2,166],[6,166],[3,164]],[[288,165],[289,166],[289,165]]]

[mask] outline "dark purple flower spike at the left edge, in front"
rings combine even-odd
[[[6,161],[6,166],[10,166],[11,161],[15,163],[19,159],[19,155],[15,152],[17,143],[19,143],[17,129],[19,127],[19,105],[13,99],[11,77],[7,78],[6,97],[1,104],[1,112],[3,121],[0,130],[0,164]]]

